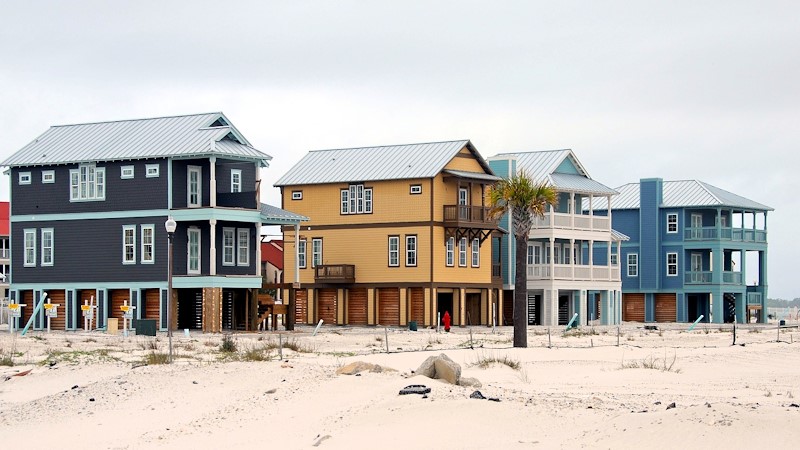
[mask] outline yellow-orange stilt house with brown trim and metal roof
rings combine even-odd
[[[297,323],[490,325],[502,311],[496,177],[468,140],[311,151],[283,175]],[[289,293],[286,292],[289,298]]]

